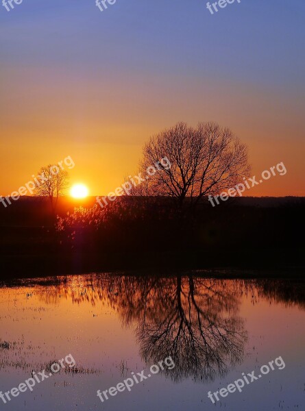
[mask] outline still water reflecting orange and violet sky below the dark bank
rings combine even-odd
[[[101,273],[3,283],[0,390],[42,370],[48,378],[0,398],[0,409],[304,410],[304,320],[304,284],[289,280]],[[75,366],[50,377],[68,354]],[[97,397],[169,356],[171,369]],[[241,393],[208,398],[279,357]]]

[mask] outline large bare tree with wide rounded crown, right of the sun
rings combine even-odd
[[[143,148],[141,172],[167,156],[169,169],[163,169],[139,187],[142,195],[186,197],[197,202],[206,195],[217,195],[249,176],[247,146],[228,128],[215,123],[189,127],[178,123],[153,136]]]

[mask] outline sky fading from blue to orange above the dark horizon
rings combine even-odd
[[[71,155],[71,183],[106,195],[143,142],[178,121],[216,121],[249,145],[249,195],[305,195],[305,3],[23,0],[0,4],[0,194]]]

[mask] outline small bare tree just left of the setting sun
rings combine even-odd
[[[40,181],[39,181],[39,180]],[[39,183],[39,184],[38,184]],[[68,187],[68,173],[56,164],[49,164],[38,171],[36,193],[40,197],[48,197],[51,210],[55,214],[58,197],[64,195]]]

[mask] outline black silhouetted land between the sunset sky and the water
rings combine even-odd
[[[304,198],[181,209],[168,199],[129,197],[104,210],[94,199],[75,206],[62,199],[56,228],[47,201],[21,199],[1,209],[1,277],[225,268],[302,277]]]

